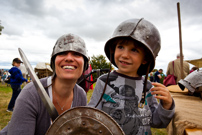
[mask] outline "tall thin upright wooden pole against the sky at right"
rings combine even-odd
[[[179,41],[180,41],[180,65],[181,65],[181,79],[184,79],[183,70],[183,52],[182,52],[182,33],[181,33],[181,17],[180,17],[180,3],[177,3],[178,23],[179,23]]]

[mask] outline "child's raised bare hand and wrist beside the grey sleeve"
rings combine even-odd
[[[169,110],[172,106],[172,97],[169,90],[161,83],[152,83],[155,87],[151,88],[151,94],[156,94],[157,99],[161,99],[163,103],[163,108]]]

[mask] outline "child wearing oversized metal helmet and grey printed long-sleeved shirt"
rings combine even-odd
[[[144,19],[124,21],[105,44],[105,53],[118,70],[99,77],[88,105],[108,113],[126,135],[151,134],[150,127],[165,128],[174,115],[168,89],[143,77],[153,70],[159,50],[159,32]]]

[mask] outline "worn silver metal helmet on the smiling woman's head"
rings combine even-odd
[[[55,43],[53,47],[53,52],[51,55],[50,66],[55,74],[55,57],[58,53],[74,51],[83,55],[84,57],[84,70],[88,68],[88,55],[85,42],[82,38],[74,34],[65,34],[61,36]]]

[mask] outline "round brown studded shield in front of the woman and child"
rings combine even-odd
[[[125,135],[107,113],[92,107],[75,107],[58,116],[46,135]]]

